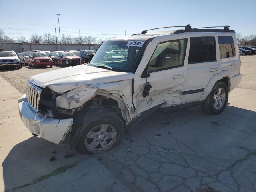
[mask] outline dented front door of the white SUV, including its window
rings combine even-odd
[[[187,39],[158,42],[156,45],[147,64],[149,77],[134,77],[134,116],[160,104],[180,104],[186,80]]]

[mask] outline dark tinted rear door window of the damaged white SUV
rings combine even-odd
[[[191,37],[188,64],[216,61],[214,37]]]

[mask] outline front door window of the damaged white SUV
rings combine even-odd
[[[158,44],[148,63],[148,71],[154,72],[184,65],[187,39]]]

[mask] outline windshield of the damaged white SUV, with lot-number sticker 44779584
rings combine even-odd
[[[90,65],[95,67],[104,66],[116,71],[130,72],[143,43],[144,42],[140,43],[141,46],[136,44],[130,44],[130,46],[127,46],[128,41],[105,41],[98,48],[90,62]],[[120,56],[114,51],[127,52],[127,56]]]

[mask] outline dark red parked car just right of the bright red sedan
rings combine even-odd
[[[55,65],[62,65],[64,67],[71,65],[84,64],[81,57],[76,56],[73,52],[60,52],[54,59]]]

